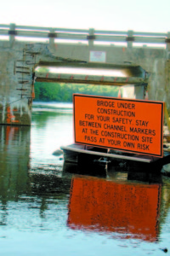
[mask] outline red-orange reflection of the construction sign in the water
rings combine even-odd
[[[161,185],[73,177],[68,226],[157,241]]]

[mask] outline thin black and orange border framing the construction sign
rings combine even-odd
[[[123,148],[116,148],[116,147],[105,147],[105,146],[101,146],[101,145],[96,145],[93,143],[81,143],[76,141],[76,124],[75,124],[75,113],[76,113],[76,109],[75,109],[75,97],[92,97],[92,98],[99,98],[99,99],[106,99],[106,100],[116,100],[116,101],[127,101],[127,102],[147,102],[147,103],[152,103],[152,104],[160,104],[161,105],[161,154],[150,154],[150,153],[144,153],[144,152],[139,152],[136,150],[127,150],[127,149],[123,149]],[[144,154],[144,155],[150,155],[150,156],[155,156],[155,157],[163,157],[163,120],[164,120],[164,102],[159,102],[159,101],[146,101],[146,100],[138,100],[138,99],[127,99],[127,98],[117,98],[117,97],[109,97],[109,96],[91,96],[91,95],[83,95],[83,94],[73,94],[73,119],[74,119],[74,141],[77,144],[82,144],[82,145],[88,145],[88,146],[94,146],[96,148],[111,148],[111,149],[115,149],[115,150],[119,150],[119,151],[123,151],[123,152],[128,152],[128,153],[132,153],[132,154]]]

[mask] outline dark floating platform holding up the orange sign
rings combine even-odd
[[[64,160],[66,162],[74,162],[81,166],[86,166],[86,168],[94,161],[103,166],[108,162],[114,166],[117,162],[126,161],[135,170],[142,169],[144,172],[161,172],[162,166],[170,163],[170,152],[164,152],[164,156],[159,158],[77,143],[62,146],[61,149],[64,152]]]

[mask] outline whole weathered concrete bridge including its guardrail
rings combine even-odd
[[[101,75],[39,73],[37,67]],[[59,69],[58,69],[59,70]],[[105,75],[104,71],[123,75]],[[0,124],[31,125],[34,83],[103,84],[164,101],[170,112],[170,32],[118,32],[0,24]],[[130,86],[130,87],[129,87]]]

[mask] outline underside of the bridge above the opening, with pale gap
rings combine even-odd
[[[42,65],[42,61],[40,61]],[[40,73],[36,72],[35,77],[37,82],[57,82],[57,83],[76,83],[76,84],[100,84],[100,85],[113,85],[122,86],[125,84],[136,84],[144,85],[148,82],[147,73],[142,67],[134,65],[117,65],[117,64],[101,64],[101,63],[47,63],[43,62],[45,67],[59,67],[59,70],[69,73],[59,73],[56,68],[55,73]],[[85,74],[82,74],[83,71]],[[98,75],[89,74],[98,71]],[[110,74],[105,75],[105,72],[110,72]],[[111,74],[112,73],[112,74]],[[122,76],[118,76],[115,73],[122,73]]]

